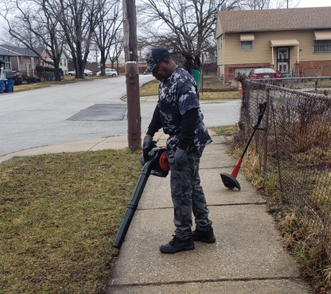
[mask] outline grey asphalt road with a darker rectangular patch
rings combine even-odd
[[[153,79],[140,75],[139,82]],[[128,134],[125,77],[0,95],[0,155],[72,141]],[[141,132],[155,103],[141,103]],[[240,101],[201,102],[207,127],[238,122]]]

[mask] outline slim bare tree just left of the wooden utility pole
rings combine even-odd
[[[121,32],[123,31],[123,17],[121,14],[121,1],[109,0],[105,2],[99,12],[98,24],[95,28],[95,43],[100,50],[100,68],[101,75],[105,75],[105,62],[107,57],[111,59],[111,67],[114,66],[114,60],[121,54]],[[114,50],[112,50],[114,49]],[[110,51],[112,55],[110,56]]]

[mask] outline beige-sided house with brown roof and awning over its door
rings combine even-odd
[[[219,11],[215,38],[225,82],[252,68],[331,76],[331,7]]]

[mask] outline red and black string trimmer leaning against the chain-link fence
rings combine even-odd
[[[229,173],[221,173],[221,178],[222,178],[223,184],[226,188],[229,188],[229,189],[238,188],[238,190],[240,191],[240,185],[236,178],[238,176],[238,172],[241,167],[241,163],[243,162],[243,157],[247,151],[249,144],[252,141],[252,138],[253,138],[256,130],[264,130],[264,128],[260,126],[260,123],[262,121],[266,106],[267,106],[266,101],[259,104],[259,118],[257,120],[256,125],[254,125],[253,132],[251,134],[251,137],[249,137],[245,150],[244,150],[243,154],[240,156],[240,158],[238,159],[238,162],[236,163],[236,166],[233,168],[231,175]]]

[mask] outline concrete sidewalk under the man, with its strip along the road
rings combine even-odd
[[[227,153],[224,137],[210,132],[213,143],[201,159],[201,184],[217,241],[195,242],[195,249],[162,254],[159,247],[174,233],[170,178],[150,176],[125,242],[111,268],[107,293],[314,293],[302,281],[298,265],[282,247],[265,201],[242,173],[241,186],[226,189],[220,172],[231,173],[236,160]],[[142,137],[144,134],[142,134]],[[155,134],[158,146],[167,136]],[[124,148],[126,136],[95,139],[22,150],[13,156]]]

